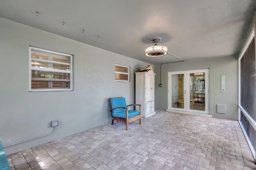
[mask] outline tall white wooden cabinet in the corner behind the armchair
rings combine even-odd
[[[156,113],[154,107],[155,73],[149,70],[135,74],[135,103],[141,105],[142,117],[149,117]]]

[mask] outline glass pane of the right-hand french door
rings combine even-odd
[[[205,110],[205,73],[190,73],[190,109]]]

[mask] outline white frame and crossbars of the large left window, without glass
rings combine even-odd
[[[31,57],[32,49],[47,52],[47,53],[54,53],[56,55],[64,55],[64,56],[70,57],[70,63],[68,63],[68,64],[66,63],[66,65],[69,66],[69,70],[33,67],[32,66],[32,60],[35,60],[35,59]],[[46,49],[41,49],[41,48],[38,48],[38,47],[29,46],[29,78],[28,78],[29,79],[29,89],[28,89],[28,91],[29,92],[72,91],[73,90],[73,76],[74,76],[73,75],[74,74],[73,58],[74,58],[74,56],[70,55],[70,54],[65,54],[65,53],[60,53],[60,52],[56,52],[56,51],[52,51],[52,50],[46,50]],[[38,61],[42,61],[42,59],[38,59]],[[58,62],[58,61],[55,62],[55,61],[50,61],[49,60],[48,63],[60,64],[61,62]],[[50,87],[48,87],[48,88],[32,88],[32,70],[48,71],[48,72],[51,72],[51,73],[56,72],[57,74],[58,73],[68,73],[69,74],[69,81],[67,81],[67,82],[69,82],[70,85],[69,85],[68,88],[50,88]],[[56,80],[58,81],[59,79],[56,79]],[[49,83],[51,82],[50,80],[48,80],[48,81],[49,81]],[[66,81],[66,80],[64,79],[64,81]]]

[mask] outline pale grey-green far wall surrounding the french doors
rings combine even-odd
[[[155,77],[155,109],[168,109],[168,72],[197,70],[209,68],[210,70],[210,115],[223,119],[238,120],[238,59],[235,56],[217,57],[210,59],[191,60],[180,63],[154,65]],[[221,75],[226,76],[226,91],[221,92]],[[226,104],[226,114],[217,113],[216,104]]]

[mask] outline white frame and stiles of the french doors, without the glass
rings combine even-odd
[[[190,73],[205,72],[205,110],[190,109]],[[172,107],[172,74],[184,74],[184,109]],[[210,114],[209,111],[209,69],[168,72],[168,110]]]

